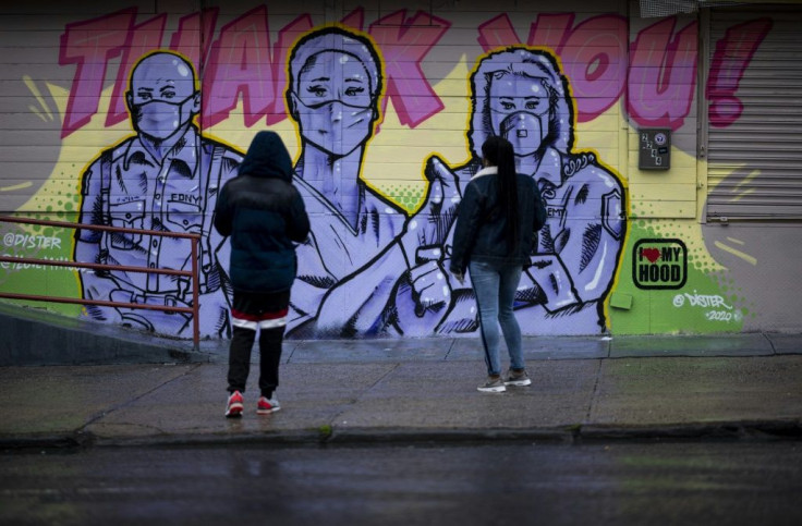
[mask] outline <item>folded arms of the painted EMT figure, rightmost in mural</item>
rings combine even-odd
[[[623,191],[611,173],[590,161],[566,175],[559,187],[546,184],[543,196],[549,217],[538,232],[517,305],[523,311],[536,307],[544,314],[571,316],[583,306],[600,301],[609,291],[625,230]],[[426,253],[418,250],[422,255],[436,254],[439,259],[428,257],[405,274],[406,283],[402,278],[396,297],[397,317],[392,320],[400,332],[425,334],[433,326],[437,332],[470,331],[477,327],[470,284],[460,286],[455,279],[449,281],[450,298],[445,306],[430,302],[432,294],[424,294],[437,291],[436,270],[447,266],[451,236],[452,233],[446,235],[439,252],[434,247]],[[445,280],[449,280],[448,274]],[[423,325],[416,318],[427,307],[434,310],[427,298],[437,305],[437,323]]]

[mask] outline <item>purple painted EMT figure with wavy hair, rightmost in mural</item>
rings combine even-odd
[[[538,333],[604,332],[604,299],[625,234],[624,188],[595,154],[574,150],[575,103],[569,79],[552,53],[507,48],[479,60],[471,76],[471,159],[450,169],[433,156],[427,169],[458,182],[461,194],[482,168],[485,139],[490,135],[509,139],[519,171],[537,180],[549,216],[518,291],[519,321],[537,327]],[[447,242],[441,254],[448,253]],[[430,266],[424,264],[411,289],[432,286]],[[475,328],[470,292],[453,297],[439,327]]]

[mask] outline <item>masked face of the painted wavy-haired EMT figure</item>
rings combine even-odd
[[[517,156],[536,152],[548,135],[549,99],[542,78],[506,74],[490,85],[493,129]]]

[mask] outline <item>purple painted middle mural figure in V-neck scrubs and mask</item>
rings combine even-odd
[[[378,119],[381,71],[373,41],[340,28],[303,37],[290,56],[287,99],[302,144],[296,184],[313,224],[311,241],[297,250],[292,291],[299,319],[312,318],[300,334],[385,334],[399,311],[410,311],[401,303],[417,308],[404,321],[417,333],[432,333],[437,315],[430,311],[443,309],[422,305],[420,295],[396,302],[394,294],[417,267],[421,236],[435,238],[447,228],[432,213],[441,208],[441,186],[430,186],[425,204],[408,217],[360,178],[363,146]],[[438,277],[446,282],[442,269]],[[293,328],[291,322],[290,333]]]

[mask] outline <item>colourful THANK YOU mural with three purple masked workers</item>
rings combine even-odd
[[[710,305],[717,313],[703,313],[706,320],[731,322],[728,329],[740,319],[731,298],[709,284],[712,271],[697,267],[710,259],[700,252],[700,234],[682,230],[681,221],[633,220],[633,207],[645,200],[630,196],[632,182],[621,174],[627,161],[615,154],[620,144],[596,144],[597,137],[619,133],[624,114],[633,129],[677,132],[689,122],[695,129],[695,21],[668,17],[630,34],[631,21],[618,14],[579,20],[575,13],[540,13],[522,38],[521,24],[500,14],[477,21],[475,38],[460,41],[471,51],[457,57],[451,42],[438,46],[452,23],[423,12],[399,10],[366,24],[365,10],[357,8],[336,24],[316,25],[312,14],[299,14],[271,28],[268,5],[258,4],[228,13],[218,27],[220,13],[212,8],[181,15],[171,35],[169,16],[141,20],[129,8],[65,24],[58,63],[74,66],[74,77],[62,88],[60,148],[83,157],[74,173],[64,173],[63,164],[53,173],[61,170],[80,189],[65,198],[81,204],[75,216],[65,216],[78,224],[203,236],[205,335],[227,337],[230,329],[228,244],[209,228],[217,188],[235,176],[238,148],[265,127],[279,131],[290,151],[295,147],[295,184],[313,224],[308,241],[297,247],[291,337],[477,329],[470,283],[452,283],[445,269],[457,206],[479,168],[479,146],[488,135],[512,142],[519,170],[537,180],[548,204],[548,223],[517,297],[524,332],[629,333],[663,323],[659,332],[683,325],[677,316],[655,321],[643,310],[621,307],[631,305],[631,297],[648,297],[649,304],[689,317]],[[118,69],[107,75],[111,66]],[[37,100],[47,103],[41,95]],[[459,115],[457,124],[448,111]],[[446,126],[453,143],[448,148],[439,142],[443,135],[433,133],[437,126]],[[108,144],[95,133],[98,127],[109,132]],[[435,138],[416,138],[428,136]],[[382,171],[402,163],[413,168],[387,180]],[[682,168],[672,163],[672,170]],[[24,189],[7,186],[15,198]],[[414,197],[401,199],[404,191]],[[14,203],[23,207],[24,196]],[[59,200],[47,210],[61,207]],[[666,224],[677,228],[660,231]],[[5,247],[19,256],[38,252],[53,259],[165,269],[191,265],[189,242],[179,238],[88,229],[77,229],[74,238],[58,229],[14,228],[3,234]],[[35,250],[17,241],[36,236],[51,241]],[[681,277],[675,276],[677,246],[686,247]],[[33,278],[41,269],[25,268],[31,273],[23,276],[12,264],[0,268],[3,286],[45,283]],[[126,303],[189,306],[191,301],[189,282],[174,277],[61,270],[62,278],[77,277],[77,290],[69,279],[51,279],[41,288]],[[627,295],[629,303],[621,299]],[[191,320],[182,314],[87,306],[84,315],[190,335]]]

